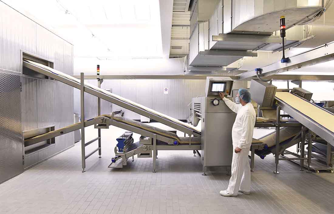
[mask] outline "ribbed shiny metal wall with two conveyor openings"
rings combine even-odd
[[[22,71],[21,50],[46,58],[54,62],[55,69],[73,75],[73,45],[0,2],[0,72]],[[17,120],[22,119],[21,134],[22,130],[46,125],[55,124],[55,128],[58,129],[73,124],[72,87],[57,81],[23,76],[21,82],[22,116],[20,112],[20,118]],[[1,130],[0,134],[3,134],[2,132]],[[58,136],[55,142],[55,145],[36,152],[34,155],[25,156],[24,167],[33,165],[73,145],[73,133]],[[20,156],[17,160],[13,160],[13,163],[20,162],[22,168],[21,141],[20,146]],[[0,149],[0,157],[3,157],[3,151]],[[0,182],[3,181],[1,173]]]

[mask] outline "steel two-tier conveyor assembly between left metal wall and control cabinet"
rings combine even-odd
[[[71,76],[68,76],[62,72],[56,71],[52,68],[46,67],[37,62],[24,59],[22,61],[23,66],[29,68],[35,72],[41,73],[45,76],[51,77],[54,80],[63,82],[67,85],[70,85],[74,88],[80,89],[80,102],[81,102],[81,122],[75,123],[73,125],[49,131],[37,136],[28,137],[24,139],[25,144],[35,144],[47,139],[60,136],[62,134],[72,132],[78,129],[81,129],[81,160],[82,160],[82,172],[85,172],[86,168],[86,159],[93,155],[95,152],[99,151],[99,156],[101,157],[101,132],[98,132],[98,137],[85,142],[85,127],[94,125],[95,128],[99,130],[101,128],[107,129],[110,125],[120,127],[122,129],[128,130],[123,137],[118,139],[117,148],[115,149],[115,157],[112,159],[112,164],[109,166],[114,167],[123,167],[127,165],[127,160],[134,155],[138,157],[151,157],[153,159],[153,173],[156,171],[156,155],[157,150],[200,150],[200,135],[201,132],[196,127],[193,127],[187,123],[184,123],[180,120],[172,118],[168,115],[162,114],[160,112],[154,111],[153,109],[147,108],[143,105],[135,103],[131,100],[120,97],[116,94],[112,94],[106,90],[100,88],[102,83],[102,78],[98,78],[98,86],[84,83],[84,75],[81,73],[80,80],[75,79]],[[98,97],[98,115],[95,118],[85,120],[85,99],[84,92],[92,94]],[[166,131],[160,128],[150,126],[146,123],[141,123],[135,120],[131,120],[120,116],[117,112],[110,114],[101,115],[99,100],[104,99],[111,103],[117,104],[125,109],[136,112],[140,115],[154,119],[163,124],[166,124],[169,127],[172,127],[176,130],[180,130],[189,135],[189,137],[180,137],[175,133]],[[133,143],[131,132],[141,134],[139,142]],[[98,147],[86,154],[86,146],[91,143],[98,141]]]

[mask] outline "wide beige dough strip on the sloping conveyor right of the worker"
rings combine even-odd
[[[325,110],[314,106],[312,103],[305,101],[289,92],[276,92],[275,97],[310,117],[328,130],[334,132],[333,114],[330,114]]]

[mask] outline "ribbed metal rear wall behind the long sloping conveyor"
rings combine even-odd
[[[87,82],[97,84],[96,80]],[[187,105],[191,99],[205,95],[205,80],[104,80],[101,87],[111,88],[114,94],[183,120],[188,118]],[[164,94],[164,88],[168,88],[168,94]],[[80,112],[80,91],[74,92],[74,109]],[[113,111],[117,110],[123,110],[127,118],[140,119],[139,114],[113,104]],[[97,99],[85,95],[85,117],[96,116],[96,112]]]

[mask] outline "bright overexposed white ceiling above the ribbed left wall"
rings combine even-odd
[[[162,56],[159,0],[4,0],[74,44],[75,57]]]

